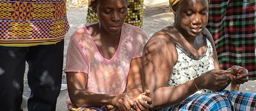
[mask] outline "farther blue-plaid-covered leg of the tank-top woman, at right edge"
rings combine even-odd
[[[235,111],[256,111],[256,93],[223,90],[219,94],[232,102]]]

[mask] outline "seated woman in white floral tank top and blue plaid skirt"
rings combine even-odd
[[[143,89],[150,109],[169,111],[256,111],[256,94],[237,92],[248,70],[219,69],[208,22],[210,0],[170,0],[174,24],[154,33],[142,57]],[[231,91],[223,90],[231,83]]]

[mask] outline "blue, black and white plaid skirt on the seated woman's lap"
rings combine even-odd
[[[256,93],[223,90],[195,94],[164,111],[256,111]]]

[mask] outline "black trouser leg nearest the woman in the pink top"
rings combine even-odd
[[[29,111],[56,110],[63,71],[63,41],[29,48],[27,58],[28,85],[31,89],[28,99]]]

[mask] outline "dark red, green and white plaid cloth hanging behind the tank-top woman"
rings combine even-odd
[[[206,28],[220,68],[239,65],[249,70],[249,80],[256,80],[256,0],[211,0]]]

